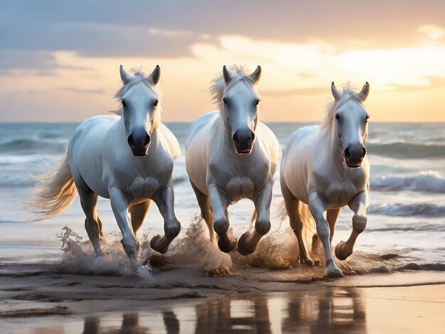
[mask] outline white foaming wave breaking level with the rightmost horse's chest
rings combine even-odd
[[[445,193],[445,178],[436,171],[421,171],[414,174],[390,175],[371,178],[372,190],[386,191],[425,191]]]

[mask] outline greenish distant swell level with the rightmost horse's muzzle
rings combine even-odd
[[[368,152],[392,158],[444,158],[445,145],[427,145],[397,142],[390,144],[368,144]]]

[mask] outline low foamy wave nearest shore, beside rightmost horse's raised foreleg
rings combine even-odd
[[[370,205],[368,213],[393,217],[445,217],[445,205],[432,203]]]

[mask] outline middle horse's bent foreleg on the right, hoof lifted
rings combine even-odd
[[[264,188],[255,195],[254,205],[257,212],[255,228],[252,232],[245,232],[238,239],[237,249],[242,255],[252,254],[257,249],[259,240],[270,230],[269,212],[272,202],[272,186],[273,181],[267,182]]]

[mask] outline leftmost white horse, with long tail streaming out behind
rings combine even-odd
[[[180,154],[178,141],[161,123],[161,96],[155,85],[160,69],[145,76],[125,72],[120,66],[122,116],[97,116],[77,127],[63,161],[42,178],[31,200],[35,220],[58,215],[78,191],[85,212],[85,229],[97,256],[102,255],[102,222],[97,215],[97,196],[109,198],[122,245],[133,269],[138,266],[141,227],[152,200],[164,219],[165,235],[156,235],[150,246],[165,253],[181,225],[173,211],[173,157]],[[77,188],[77,191],[76,191]],[[131,217],[131,220],[129,219]]]

